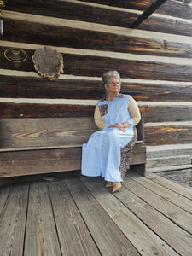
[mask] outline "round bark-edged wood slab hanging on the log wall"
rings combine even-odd
[[[63,73],[63,58],[56,49],[45,46],[32,56],[35,70],[46,79],[54,80]]]

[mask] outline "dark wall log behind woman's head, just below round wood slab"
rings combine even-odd
[[[16,73],[15,73],[16,75]],[[84,99],[97,100],[104,96],[101,81],[82,79],[55,79],[0,75],[0,96],[11,98]],[[190,85],[137,84],[123,82],[121,92],[130,94],[137,101],[147,102],[190,102]]]

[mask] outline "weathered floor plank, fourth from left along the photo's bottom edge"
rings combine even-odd
[[[105,209],[77,178],[68,178],[66,183],[102,255],[139,255]]]

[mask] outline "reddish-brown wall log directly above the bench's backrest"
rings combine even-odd
[[[93,117],[95,106],[30,104],[0,102],[0,118],[68,118]],[[140,106],[145,123],[187,121],[192,119],[191,106]]]

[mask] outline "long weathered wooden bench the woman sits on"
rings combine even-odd
[[[1,119],[0,177],[80,170],[82,144],[94,131],[93,118]],[[143,120],[137,133],[130,165],[144,175]]]

